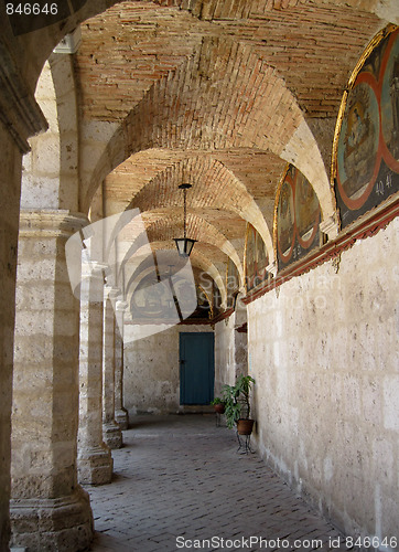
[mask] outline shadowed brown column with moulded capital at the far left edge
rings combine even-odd
[[[3,18],[0,23],[0,550],[8,550],[10,540],[12,357],[22,155],[30,149],[28,138],[47,126],[21,73],[7,25]],[[31,59],[25,52],[23,60]]]

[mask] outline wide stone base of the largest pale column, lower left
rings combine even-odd
[[[78,487],[61,498],[12,499],[11,546],[30,552],[87,550],[94,535],[88,493]]]

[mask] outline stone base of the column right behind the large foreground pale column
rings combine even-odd
[[[80,448],[77,453],[77,479],[80,485],[111,482],[114,460],[107,445]]]

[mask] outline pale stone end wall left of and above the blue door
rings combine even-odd
[[[140,339],[140,328],[125,325],[123,397],[129,417],[140,413],[169,414],[180,407],[179,333],[212,331],[209,326],[173,326]],[[133,332],[136,339],[133,340]]]

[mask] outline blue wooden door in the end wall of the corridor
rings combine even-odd
[[[209,404],[214,380],[214,335],[180,333],[180,404]]]

